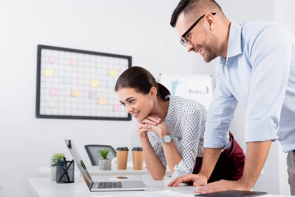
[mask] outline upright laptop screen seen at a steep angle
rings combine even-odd
[[[74,161],[75,163],[77,164],[87,186],[90,188],[91,184],[92,184],[92,179],[90,177],[90,174],[83,162],[83,160],[81,159],[81,156],[80,154],[78,153],[78,150],[76,149],[74,143],[72,140],[67,140],[65,139],[64,140],[65,144],[67,145],[67,147],[69,148],[69,151],[71,152],[73,158],[74,158]]]

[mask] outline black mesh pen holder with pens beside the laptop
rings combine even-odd
[[[57,183],[74,183],[74,161],[57,162]]]

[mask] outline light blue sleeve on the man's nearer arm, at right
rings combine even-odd
[[[250,55],[251,89],[245,122],[246,142],[278,138],[276,133],[294,58],[291,52],[291,41],[283,36],[276,25],[267,26],[253,42]]]

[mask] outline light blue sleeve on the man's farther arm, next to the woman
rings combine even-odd
[[[216,88],[208,109],[204,148],[227,149],[230,146],[227,135],[238,101],[222,81],[218,66],[222,65],[216,66]]]

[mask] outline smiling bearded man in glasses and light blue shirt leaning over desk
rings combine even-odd
[[[197,193],[251,190],[266,162],[271,142],[288,152],[291,194],[295,195],[295,36],[274,22],[231,23],[214,0],[181,0],[171,18],[180,42],[205,62],[218,58],[199,174],[172,181],[206,185],[222,149],[237,103],[246,109],[247,156],[242,178],[209,183]],[[208,165],[209,164],[209,165]]]

